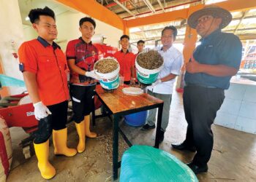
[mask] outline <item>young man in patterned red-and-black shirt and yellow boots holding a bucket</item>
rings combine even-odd
[[[98,50],[91,44],[96,23],[91,17],[83,17],[79,21],[79,39],[69,41],[67,44],[67,63],[71,71],[70,96],[74,111],[75,127],[78,131],[78,152],[85,150],[85,137],[95,138],[97,134],[90,131],[90,113],[94,102],[96,79],[94,63],[98,60]]]

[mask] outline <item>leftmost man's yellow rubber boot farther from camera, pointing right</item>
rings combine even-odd
[[[62,130],[53,130],[54,154],[72,157],[77,154],[76,149],[67,147],[67,127]]]

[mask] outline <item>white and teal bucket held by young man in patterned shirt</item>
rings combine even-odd
[[[104,60],[104,59],[115,60],[116,63],[118,63],[118,61],[115,58],[110,58],[110,57],[98,60],[97,63],[99,61]],[[118,63],[118,68],[116,68],[115,71],[112,71],[111,73],[108,73],[108,74],[99,73],[95,68],[97,63],[94,64],[94,71],[95,71],[95,74],[97,74],[98,76],[101,76],[103,78],[103,79],[99,80],[99,83],[102,86],[102,88],[105,89],[105,90],[115,90],[115,89],[117,89],[119,87],[119,71],[120,71],[119,63]]]

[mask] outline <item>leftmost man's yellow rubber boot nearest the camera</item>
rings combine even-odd
[[[34,151],[37,155],[37,166],[42,175],[42,178],[45,178],[47,180],[53,178],[53,176],[56,175],[56,170],[52,165],[50,165],[50,162],[48,161],[49,140],[45,143],[34,143]]]

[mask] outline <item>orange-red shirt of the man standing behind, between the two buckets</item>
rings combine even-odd
[[[124,53],[123,50],[120,50],[114,54],[114,57],[120,65],[119,74],[124,76],[124,81],[130,81],[132,76],[131,68],[135,63],[135,55],[132,52],[127,51],[127,53]]]

